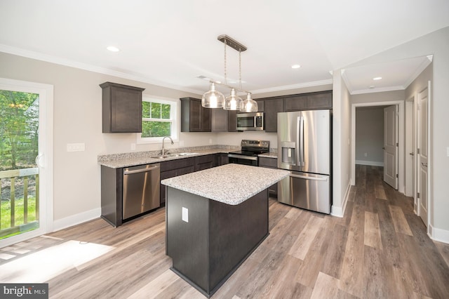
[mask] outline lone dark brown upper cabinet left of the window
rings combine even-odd
[[[142,133],[142,91],[145,88],[105,82],[102,88],[103,133]]]

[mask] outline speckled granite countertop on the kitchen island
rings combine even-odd
[[[226,164],[162,180],[161,184],[237,205],[288,177],[289,171],[241,164]]]

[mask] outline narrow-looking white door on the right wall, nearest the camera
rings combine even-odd
[[[429,200],[427,198],[427,179],[429,176],[427,161],[429,157],[429,145],[427,142],[427,126],[429,117],[429,88],[418,93],[418,215],[427,227],[427,211]]]

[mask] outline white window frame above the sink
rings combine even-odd
[[[142,101],[145,102],[158,102],[161,104],[168,104],[170,105],[170,119],[167,121],[170,121],[172,124],[172,130],[170,137],[173,139],[174,142],[177,142],[179,140],[179,100],[170,99],[170,98],[162,98],[158,97],[156,95],[142,95]],[[142,118],[143,120],[143,118]],[[159,120],[159,119],[158,119]],[[161,119],[162,121],[165,121],[165,119]],[[148,143],[161,143],[163,137],[146,137],[142,138],[142,133],[137,133],[137,144],[148,144]]]

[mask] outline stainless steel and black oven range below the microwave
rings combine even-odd
[[[257,155],[269,152],[269,141],[267,140],[241,140],[241,150],[230,152],[227,157],[229,163],[259,166]]]

